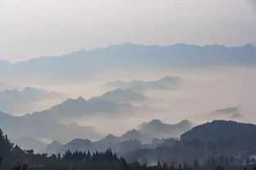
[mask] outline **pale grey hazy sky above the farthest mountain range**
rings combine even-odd
[[[0,59],[31,59],[121,42],[256,41],[256,0],[0,0]]]

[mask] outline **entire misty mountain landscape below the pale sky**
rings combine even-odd
[[[0,169],[255,170],[255,55],[125,43],[1,61]]]

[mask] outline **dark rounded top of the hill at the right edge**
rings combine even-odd
[[[202,142],[237,142],[246,146],[255,146],[256,125],[235,121],[213,120],[211,123],[194,127],[181,136],[182,141],[199,139]]]

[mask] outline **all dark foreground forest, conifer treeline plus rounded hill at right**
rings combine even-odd
[[[204,133],[201,133],[204,131],[203,129],[208,131],[207,140],[204,138]],[[222,129],[222,135],[217,137],[219,129]],[[231,133],[233,129],[236,130],[236,135]],[[223,168],[243,170],[246,167],[250,170],[256,168],[255,147],[251,147],[249,144],[246,146],[245,143],[240,142],[250,141],[251,136],[249,135],[255,135],[254,130],[254,124],[214,120],[212,123],[202,124],[184,133],[182,141],[166,141],[156,149],[133,151],[131,154],[125,155],[125,159],[110,149],[104,152],[66,150],[64,155],[35,155],[33,150],[21,150],[19,146],[13,146],[7,136],[0,131],[0,168],[4,170],[221,170]],[[194,137],[194,133],[197,134],[196,137]],[[190,134],[189,137],[187,137],[188,134]],[[224,136],[226,137],[222,139]],[[202,137],[202,141],[199,137]],[[212,141],[214,137],[217,138]],[[234,138],[240,137],[244,138],[233,141]],[[76,142],[79,144],[79,141]],[[254,142],[254,137],[250,142]]]

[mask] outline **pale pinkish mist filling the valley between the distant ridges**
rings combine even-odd
[[[146,101],[130,102],[132,106],[146,106],[138,112],[120,112],[118,114],[98,113],[66,121],[79,125],[92,126],[97,131],[120,135],[128,129],[136,129],[142,122],[152,119],[164,120],[174,124],[181,120],[191,120],[195,124],[214,119],[234,120],[227,115],[214,115],[213,111],[227,107],[238,107],[242,118],[239,121],[254,123],[254,87],[256,85],[255,68],[249,67],[213,67],[187,68],[164,71],[120,71],[104,72],[95,75],[92,81],[79,85],[44,85],[40,88],[58,90],[70,94],[73,98],[89,99],[111,91],[106,85],[110,81],[155,81],[164,76],[178,76],[182,84],[170,90],[147,89],[142,94]],[[140,74],[137,74],[140,72]],[[122,124],[122,126],[120,126]],[[107,126],[107,128],[106,128]]]

